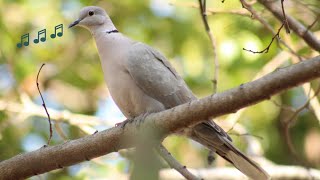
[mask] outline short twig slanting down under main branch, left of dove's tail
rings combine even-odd
[[[200,179],[193,175],[186,166],[182,166],[162,144],[156,150],[171,168],[177,170],[186,179]]]

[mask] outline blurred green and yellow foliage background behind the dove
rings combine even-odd
[[[173,5],[169,5],[166,0],[0,0],[0,99],[19,102],[22,95],[27,95],[41,105],[35,78],[41,64],[47,63],[40,78],[47,106],[89,115],[97,115],[97,109],[108,111],[99,103],[108,99],[108,92],[94,41],[85,29],[67,28],[77,18],[79,10],[87,5],[105,8],[121,32],[162,51],[198,97],[211,94],[214,65],[210,42],[199,10],[183,5],[197,1],[172,2]],[[285,1],[285,4],[287,13],[305,26],[310,25],[320,13],[319,0]],[[231,0],[226,0],[225,3],[208,1],[207,6],[219,11],[242,9],[239,1]],[[262,6],[254,7],[275,30],[280,27],[281,24]],[[306,13],[306,7],[312,11]],[[269,53],[252,54],[242,50],[244,47],[261,50],[272,38],[269,31],[250,17],[215,14],[208,16],[208,19],[217,41],[220,62],[218,92],[251,81],[266,63],[283,51],[276,43],[273,43]],[[39,44],[32,42],[39,30],[46,28],[49,36],[53,33],[54,26],[60,23],[64,25],[63,37],[47,37],[46,42]],[[311,30],[319,31],[319,22]],[[19,49],[16,44],[25,33],[30,33],[30,45]],[[280,35],[293,49],[299,50],[300,55],[315,55],[294,33],[288,35],[282,31]],[[302,88],[297,87],[272,99],[280,104],[298,107],[307,98]],[[266,101],[247,108],[239,122],[250,133],[263,138],[261,143],[268,159],[292,165],[298,162],[288,153],[280,122],[288,115],[288,112],[271,101]],[[104,114],[103,118],[108,120],[111,117]],[[223,120],[224,117],[220,119]],[[69,139],[85,135],[77,126],[67,123],[61,125]],[[45,118],[27,117],[23,113],[6,111],[0,106],[0,161],[40,148],[45,144],[48,133]],[[315,134],[312,136],[315,138],[308,138],[310,133]],[[311,158],[313,166],[318,168],[320,159],[315,158],[319,156],[306,154],[310,151],[306,149],[306,144],[309,139],[318,141],[315,145],[319,145],[319,134],[319,121],[312,111],[300,113],[297,124],[291,130],[293,142],[301,156]],[[237,146],[245,149],[241,137],[233,138]],[[63,141],[55,132],[53,144]],[[187,167],[208,166],[207,150],[193,141],[183,137],[169,137],[165,140],[165,145]],[[320,154],[319,148],[316,150],[318,152],[315,154]],[[69,179],[70,176],[73,179],[112,178],[129,172],[130,169],[132,167],[128,160],[113,153],[41,176],[46,179]]]

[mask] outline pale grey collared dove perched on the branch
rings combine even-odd
[[[122,113],[132,119],[195,100],[169,61],[152,47],[120,33],[104,9],[88,6],[69,25],[88,29],[95,39],[104,78]],[[213,121],[195,125],[184,135],[201,143],[252,179],[269,179],[255,162],[232,145],[231,138]]]

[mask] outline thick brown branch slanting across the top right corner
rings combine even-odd
[[[270,0],[258,0],[263,6],[265,6],[273,15],[275,15],[281,22],[283,22],[283,13],[278,5]],[[300,36],[311,48],[320,52],[320,41],[317,37],[309,31],[303,24],[294,19],[293,17],[286,15],[290,28]]]

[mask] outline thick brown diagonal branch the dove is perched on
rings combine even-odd
[[[131,137],[139,137],[144,130],[161,132],[161,139],[185,127],[200,123],[208,117],[234,113],[243,107],[269,99],[272,95],[285,89],[319,77],[320,56],[317,56],[278,69],[237,88],[150,114],[139,126],[137,126],[139,122],[133,121],[133,123],[128,123],[124,129],[114,127],[60,145],[17,155],[0,163],[0,179],[27,178],[120,149],[134,147],[136,142]]]

